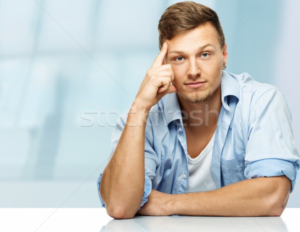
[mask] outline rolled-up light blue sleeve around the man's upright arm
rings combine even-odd
[[[118,143],[118,140],[122,134],[125,122],[127,120],[127,114],[124,113],[122,114],[116,122],[116,126],[114,127],[112,134],[111,134],[111,152],[110,152],[110,156],[113,154],[115,147]],[[143,192],[143,196],[142,196],[142,202],[140,204],[140,207],[147,201],[147,197],[151,192],[152,189],[152,182],[151,180],[154,178],[155,176],[155,170],[156,170],[156,166],[158,165],[158,158],[156,153],[154,152],[153,148],[152,148],[152,137],[149,135],[149,133],[145,133],[145,182],[144,182],[144,192]],[[101,205],[102,207],[105,207],[105,204],[101,198],[101,194],[100,194],[100,184],[101,184],[101,176],[102,176],[101,172],[99,174],[99,177],[97,179],[97,191],[98,191],[98,197],[100,199]],[[128,186],[130,187],[130,186]],[[140,207],[138,208],[138,210],[140,209]]]

